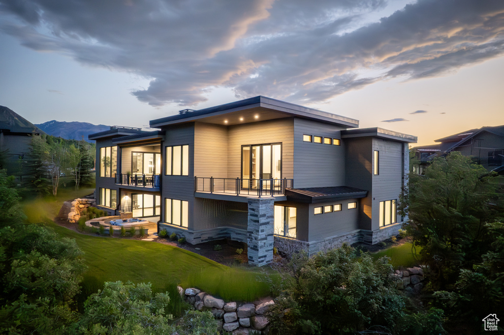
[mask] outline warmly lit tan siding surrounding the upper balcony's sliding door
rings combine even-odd
[[[282,143],[282,178],[293,176],[293,119],[247,123],[228,128],[228,178],[241,176],[241,146]]]

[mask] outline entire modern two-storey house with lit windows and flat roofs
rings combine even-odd
[[[246,242],[255,265],[271,262],[274,237],[310,253],[376,243],[404,220],[396,204],[417,138],[358,124],[259,96],[152,120],[156,131],[111,127],[89,136],[98,203],[193,244]]]

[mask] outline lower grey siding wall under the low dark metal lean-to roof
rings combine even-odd
[[[357,202],[357,208],[348,209],[348,203]],[[341,211],[314,214],[314,208],[341,204]],[[359,229],[359,199],[334,201],[320,204],[309,204],[309,241],[324,239],[334,235],[348,233]]]

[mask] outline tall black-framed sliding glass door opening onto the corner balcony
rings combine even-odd
[[[242,188],[253,189],[258,188],[259,179],[281,179],[282,144],[242,145],[241,178]],[[271,181],[263,181],[263,188],[270,186]]]

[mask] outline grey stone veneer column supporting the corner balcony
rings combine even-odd
[[[275,198],[247,198],[248,264],[263,266],[273,261]]]

